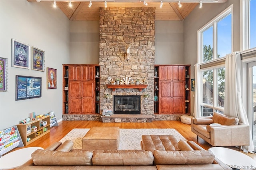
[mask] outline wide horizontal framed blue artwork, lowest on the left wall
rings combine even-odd
[[[16,75],[16,100],[39,98],[42,94],[42,78]]]

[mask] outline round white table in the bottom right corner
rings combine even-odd
[[[255,170],[256,162],[248,155],[224,147],[212,147],[209,149],[224,164],[231,168],[242,170]]]

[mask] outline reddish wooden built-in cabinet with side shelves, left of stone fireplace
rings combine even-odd
[[[63,64],[63,114],[99,113],[96,70],[95,64]]]

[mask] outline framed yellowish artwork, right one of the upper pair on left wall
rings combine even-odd
[[[44,72],[44,51],[32,47],[32,70]]]

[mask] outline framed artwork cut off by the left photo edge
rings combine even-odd
[[[7,91],[7,66],[8,59],[0,57],[0,92]]]

